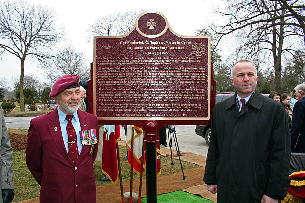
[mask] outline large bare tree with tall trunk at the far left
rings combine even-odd
[[[28,1],[4,0],[0,4],[0,55],[10,53],[20,59],[20,110],[24,109],[24,61],[33,57],[41,64],[53,54],[62,39],[63,28],[55,27],[55,16],[48,6]]]

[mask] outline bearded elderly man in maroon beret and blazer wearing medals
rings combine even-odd
[[[30,122],[26,164],[41,186],[40,203],[96,203],[98,120],[78,110],[78,83],[77,75],[58,79],[50,93],[58,107]]]

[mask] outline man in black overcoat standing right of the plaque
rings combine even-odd
[[[286,196],[290,161],[287,117],[280,102],[255,92],[248,60],[231,73],[234,96],[215,105],[204,181],[217,203],[278,203]]]

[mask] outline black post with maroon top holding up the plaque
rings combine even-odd
[[[156,121],[148,121],[145,123],[145,137],[146,142],[146,202],[157,202],[157,185],[156,185],[156,145],[158,138],[158,125]]]

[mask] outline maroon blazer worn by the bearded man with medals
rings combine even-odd
[[[97,117],[78,110],[81,130],[96,129]],[[98,144],[92,155],[90,146],[83,146],[74,165],[65,148],[57,108],[33,118],[28,130],[26,164],[40,189],[40,203],[96,203],[93,175]]]

